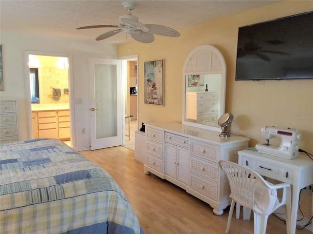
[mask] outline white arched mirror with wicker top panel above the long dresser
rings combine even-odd
[[[183,67],[182,123],[221,131],[218,119],[225,110],[226,63],[212,45],[190,52]]]

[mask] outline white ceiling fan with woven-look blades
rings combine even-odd
[[[142,24],[138,22],[138,17],[131,14],[134,10],[136,3],[134,1],[125,1],[122,3],[124,9],[127,10],[127,15],[119,17],[118,25],[91,25],[79,27],[76,29],[89,29],[89,28],[116,28],[112,31],[99,35],[96,40],[103,40],[114,36],[120,32],[130,34],[133,39],[142,43],[151,43],[155,40],[154,34],[165,37],[179,37],[180,34],[176,30],[157,24]]]

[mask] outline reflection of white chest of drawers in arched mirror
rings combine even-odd
[[[186,92],[186,119],[207,124],[219,116],[218,92]]]

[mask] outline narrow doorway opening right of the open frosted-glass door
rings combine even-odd
[[[125,140],[123,146],[134,151],[135,131],[138,130],[138,56],[122,59],[125,86]]]

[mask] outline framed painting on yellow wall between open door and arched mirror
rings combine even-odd
[[[164,105],[165,59],[144,62],[146,104]]]

